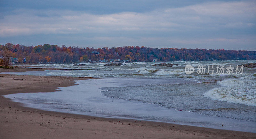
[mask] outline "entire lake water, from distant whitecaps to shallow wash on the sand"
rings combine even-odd
[[[164,62],[178,66],[151,66],[163,62],[27,65],[37,68],[77,68],[11,74],[44,76],[100,77],[76,81],[78,85],[60,87],[59,92],[10,94],[5,97],[27,107],[101,117],[133,118],[216,129],[256,132],[256,68],[243,73],[207,73],[210,65],[236,66],[256,60]],[[205,74],[187,75],[185,66]],[[2,73],[3,74],[3,73]],[[175,121],[175,122],[173,122]],[[222,126],[223,125],[223,126]]]

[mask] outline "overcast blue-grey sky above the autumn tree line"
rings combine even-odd
[[[0,44],[256,50],[256,1],[0,0]]]

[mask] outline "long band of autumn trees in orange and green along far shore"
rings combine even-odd
[[[37,45],[24,46],[7,43],[0,45],[0,56],[12,56],[22,61],[26,58],[28,63],[57,62],[57,63],[77,63],[79,61],[88,62],[100,59],[121,59],[134,62],[153,59],[157,61],[201,61],[201,60],[249,60],[256,59],[256,51],[236,51],[224,49],[177,49],[177,48],[149,48],[144,46],[124,46],[124,47],[77,47],[65,45]],[[1,65],[1,64],[0,64]]]

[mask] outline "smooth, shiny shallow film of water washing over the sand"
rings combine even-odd
[[[154,103],[123,100],[102,95],[102,91],[104,90],[102,90],[101,87],[127,87],[128,82],[134,85],[140,84],[141,82],[147,82],[147,80],[148,79],[138,80],[127,78],[79,80],[76,81],[78,85],[71,87],[60,87],[60,91],[57,92],[19,93],[5,95],[4,97],[12,99],[13,101],[21,102],[26,107],[48,111],[170,123],[175,120],[176,124],[190,126],[247,132],[256,131],[256,122],[254,121],[204,115],[191,111],[179,111],[168,109]],[[152,81],[154,82],[155,79],[152,79]],[[149,82],[151,81],[149,80]],[[86,89],[84,89],[84,87],[86,87]]]

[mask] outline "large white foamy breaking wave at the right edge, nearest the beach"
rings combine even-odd
[[[244,76],[238,79],[218,81],[221,87],[206,92],[204,97],[235,104],[256,106],[256,77]]]

